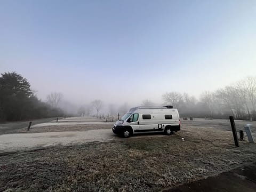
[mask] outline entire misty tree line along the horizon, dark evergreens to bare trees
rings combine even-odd
[[[0,77],[0,121],[19,121],[65,115],[59,106],[63,98],[61,93],[47,95],[46,102],[38,99],[30,88],[28,80],[12,72]],[[256,77],[247,77],[229,86],[215,91],[206,91],[199,99],[187,93],[167,92],[162,95],[161,105],[172,105],[178,108],[181,117],[228,118],[256,120]],[[146,99],[141,106],[155,106],[156,103]],[[96,99],[78,108],[80,116],[102,114],[103,102]],[[130,109],[126,102],[121,106],[109,104],[108,114],[123,115]],[[95,111],[95,113],[93,112]],[[106,111],[106,110],[105,110]],[[108,114],[105,114],[107,116]]]

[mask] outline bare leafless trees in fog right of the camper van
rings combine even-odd
[[[256,120],[256,77],[214,92],[204,92],[199,100],[187,93],[169,92],[163,95],[165,103],[179,109],[181,116],[201,118],[228,118]]]

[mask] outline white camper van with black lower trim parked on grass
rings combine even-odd
[[[115,134],[127,138],[137,133],[163,132],[170,135],[180,131],[180,116],[172,106],[131,108],[113,126]]]

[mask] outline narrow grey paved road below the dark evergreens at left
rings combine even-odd
[[[56,118],[54,117],[54,118],[35,119],[35,120],[31,120],[31,122],[32,122],[32,125],[35,125],[35,124],[39,124],[39,123],[50,122],[50,121],[53,121],[54,119],[56,119]],[[30,121],[2,123],[2,124],[0,124],[0,135],[5,134],[5,133],[10,133],[14,130],[27,127],[29,122]]]

